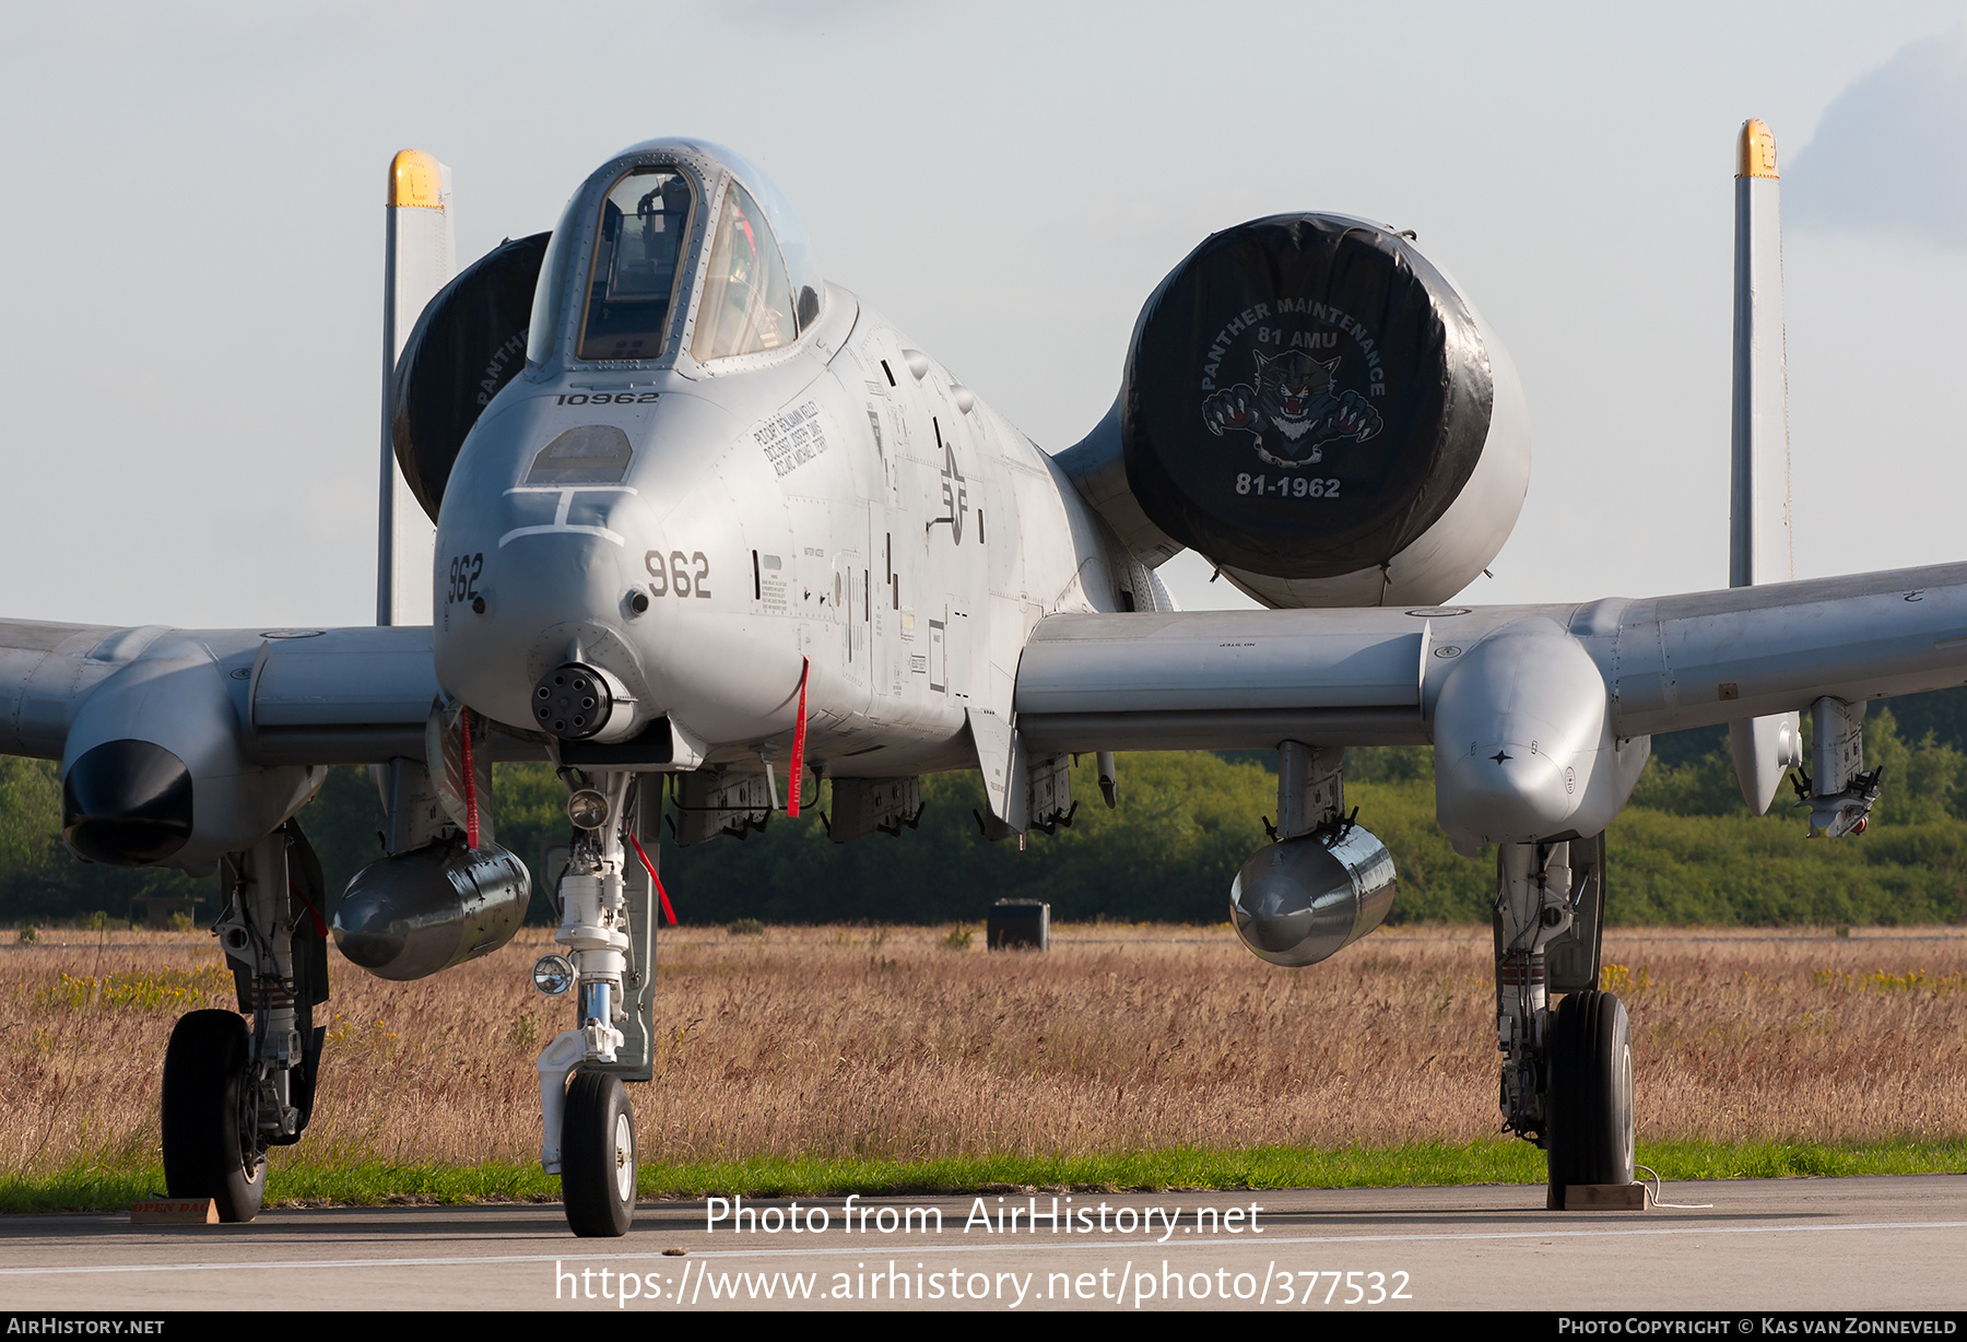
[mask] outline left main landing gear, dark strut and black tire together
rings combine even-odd
[[[212,1198],[218,1220],[260,1214],[266,1153],[301,1139],[315,1108],[328,1000],[321,862],[291,821],[224,862],[226,950],[240,1011],[189,1011],[163,1055],[163,1183],[173,1198]]]

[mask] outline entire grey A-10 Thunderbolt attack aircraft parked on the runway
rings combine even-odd
[[[1456,606],[1522,506],[1517,374],[1412,234],[1286,214],[1204,240],[1147,299],[1111,413],[1058,457],[828,283],[751,163],[651,140],[551,234],[448,277],[448,175],[391,165],[384,555],[437,523],[433,622],[167,630],[0,622],[0,750],[61,762],[94,862],[218,868],[234,1011],[163,1067],[173,1196],[256,1214],[313,1108],[327,941],[384,978],[506,945],[529,872],[490,762],[551,760],[572,992],[539,1057],[543,1159],[576,1234],[624,1234],[651,1074],[657,824],[683,844],[797,813],[899,832],[978,769],[993,838],[1072,817],[1068,763],[1279,752],[1275,842],[1229,891],[1261,958],[1314,964],[1387,915],[1347,746],[1432,744],[1456,848],[1499,852],[1501,1106],[1550,1204],[1633,1181],[1627,1013],[1597,990],[1605,828],[1648,734],[1729,722],[1749,805],[1800,769],[1810,830],[1863,828],[1865,701],[1967,681],[1967,565],[1792,582],[1774,144],[1737,177],[1731,588]],[[421,279],[419,279],[421,275]],[[421,285],[421,289],[419,289]],[[415,331],[405,331],[421,311]],[[397,350],[401,356],[397,358]],[[401,480],[395,480],[395,466]],[[1184,547],[1267,606],[1172,608]],[[386,856],[332,909],[293,817],[370,763]],[[1556,994],[1562,994],[1558,998]],[[244,1013],[244,1015],[242,1015]],[[250,1023],[248,1023],[250,1017]]]

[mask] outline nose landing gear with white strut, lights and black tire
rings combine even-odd
[[[574,1025],[539,1055],[541,1163],[561,1177],[576,1236],[627,1234],[635,1216],[635,1110],[624,1080],[649,1080],[655,868],[661,777],[563,769],[574,823],[559,882],[566,954],[533,966],[541,992],[572,990]],[[635,834],[649,836],[643,846]]]

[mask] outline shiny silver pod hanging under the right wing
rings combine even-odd
[[[1357,824],[1326,846],[1298,834],[1253,854],[1229,885],[1229,919],[1257,958],[1318,964],[1387,921],[1393,854]]]

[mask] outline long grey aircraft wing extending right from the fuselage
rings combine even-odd
[[[1967,683],[1967,565],[1564,606],[1058,614],[1017,673],[1035,752],[1412,746],[1461,657],[1534,626],[1650,736]],[[1556,626],[1556,628],[1552,628]]]

